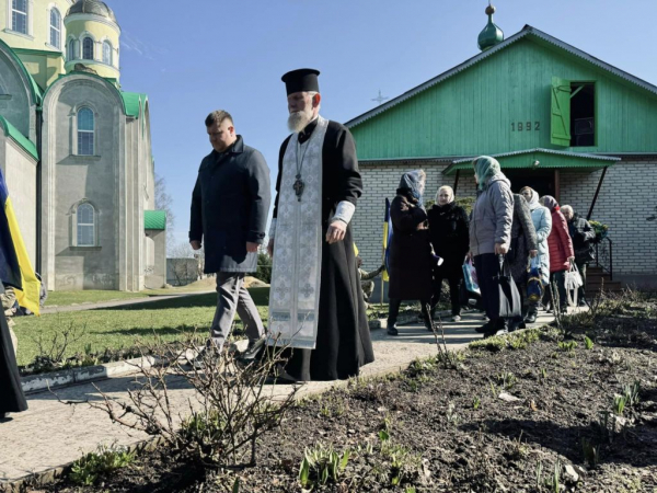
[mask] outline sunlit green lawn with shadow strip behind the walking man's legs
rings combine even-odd
[[[267,323],[269,288],[257,287],[249,291],[263,322]],[[194,332],[205,337],[212,322],[216,306],[217,295],[210,293],[124,307],[59,312],[42,317],[16,317],[14,331],[19,337],[18,363],[21,366],[28,365],[39,355],[39,336],[45,345],[48,345],[57,333],[71,325],[77,329],[80,339],[70,344],[65,357],[84,353],[85,348],[91,348],[94,353],[106,348],[128,348],[140,340],[184,340]],[[237,317],[233,334],[242,333],[243,324]]]

